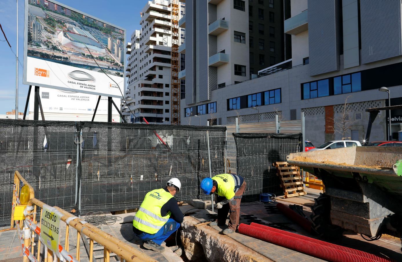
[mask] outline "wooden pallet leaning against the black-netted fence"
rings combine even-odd
[[[299,167],[289,165],[287,162],[275,162],[273,165],[277,169],[277,175],[285,194],[284,198],[307,194],[304,190],[303,177],[300,175]]]

